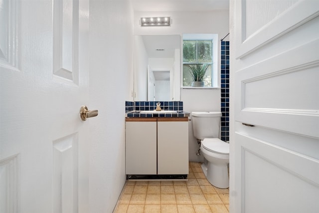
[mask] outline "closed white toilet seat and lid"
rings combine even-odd
[[[205,138],[201,145],[204,149],[210,152],[229,155],[229,144],[218,138]]]

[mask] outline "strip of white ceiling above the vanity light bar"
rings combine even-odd
[[[229,0],[131,0],[134,11],[212,11],[229,9]]]

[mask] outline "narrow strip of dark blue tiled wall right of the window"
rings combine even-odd
[[[229,41],[221,41],[220,57],[221,140],[229,141]]]

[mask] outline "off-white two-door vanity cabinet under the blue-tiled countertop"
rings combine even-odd
[[[127,118],[127,175],[187,175],[188,117]]]

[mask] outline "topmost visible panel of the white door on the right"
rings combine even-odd
[[[235,3],[236,59],[319,15],[316,0],[238,0]]]

